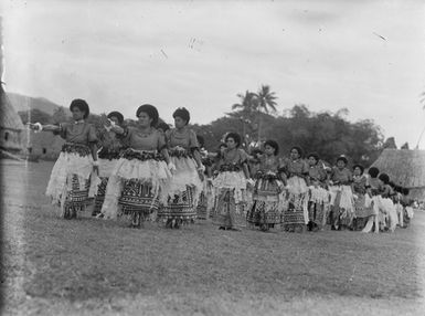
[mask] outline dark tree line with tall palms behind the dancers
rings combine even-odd
[[[317,152],[329,164],[333,164],[338,156],[346,155],[351,162],[368,167],[384,148],[396,148],[393,137],[384,141],[381,127],[372,119],[349,122],[346,108],[336,113],[315,113],[308,106],[297,104],[278,113],[277,96],[268,85],[262,85],[258,92],[237,94],[237,97],[238,103],[233,104],[231,112],[210,124],[190,125],[204,138],[209,151],[217,150],[225,134],[230,131],[242,136],[243,147],[248,152],[261,148],[266,139],[274,139],[284,156],[288,155],[293,146],[300,146],[306,154]],[[24,124],[29,119],[41,124],[70,119],[63,107],[57,108],[53,115],[36,108],[20,112],[19,115]],[[91,114],[88,122],[100,129],[104,116]],[[134,119],[126,119],[126,123],[130,126],[136,124]],[[404,144],[402,149],[408,149],[408,145]]]

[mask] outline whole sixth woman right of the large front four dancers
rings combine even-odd
[[[372,199],[366,193],[369,179],[364,175],[364,168],[361,165],[353,166],[352,191],[354,198],[355,219],[353,220],[353,230],[364,229],[370,217],[374,215]]]

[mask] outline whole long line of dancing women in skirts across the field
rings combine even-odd
[[[70,109],[73,123],[29,125],[65,140],[46,188],[64,219],[92,204],[93,217],[124,218],[131,228],[156,221],[179,229],[211,220],[232,231],[379,233],[406,228],[413,218],[408,189],[378,168],[349,168],[344,156],[329,167],[317,154],[304,155],[294,146],[281,158],[273,139],[248,155],[236,133],[208,152],[188,127],[184,107],[173,113],[174,128],[159,123],[157,108],[145,104],[136,110],[135,126],[111,112],[102,130],[87,123],[84,99],[74,99]]]

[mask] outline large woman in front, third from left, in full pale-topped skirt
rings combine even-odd
[[[159,204],[167,201],[167,183],[170,171],[176,168],[163,135],[155,128],[159,117],[157,108],[150,104],[141,105],[136,116],[137,127],[127,130],[113,127],[129,148],[123,151],[111,171],[102,213],[105,219],[130,214],[131,227],[140,228],[142,221],[155,220]]]

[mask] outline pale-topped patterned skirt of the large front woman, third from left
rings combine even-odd
[[[120,158],[109,177],[102,213],[105,219],[135,212],[155,217],[159,204],[167,202],[170,178],[166,161]]]

